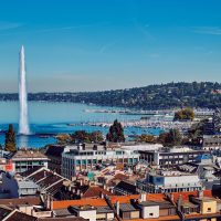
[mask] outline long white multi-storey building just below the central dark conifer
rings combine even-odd
[[[62,154],[62,176],[70,179],[80,171],[96,170],[97,166],[119,162],[130,167],[138,161],[139,154],[136,150],[99,145],[67,146]]]

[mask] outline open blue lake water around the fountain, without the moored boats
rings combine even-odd
[[[45,102],[29,102],[29,120],[32,135],[17,136],[18,147],[39,148],[48,144],[56,143],[53,136],[43,137],[40,134],[62,134],[73,133],[75,130],[102,130],[105,135],[108,130],[106,127],[88,126],[88,125],[72,125],[78,123],[95,123],[95,122],[120,122],[139,119],[141,115],[122,115],[118,113],[93,113],[85,109],[119,109],[110,107],[99,107],[75,103],[45,103]],[[0,129],[4,131],[8,124],[13,124],[18,131],[19,119],[19,103],[18,102],[0,102]],[[71,125],[70,125],[71,124]],[[141,129],[135,127],[125,128],[126,135],[136,134],[156,134],[159,129]],[[0,144],[4,144],[4,133],[0,134]]]

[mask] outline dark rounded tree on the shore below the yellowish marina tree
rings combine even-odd
[[[162,133],[159,136],[159,141],[164,146],[173,147],[178,146],[182,141],[182,136],[179,129],[170,129],[169,133]]]

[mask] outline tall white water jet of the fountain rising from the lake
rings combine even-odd
[[[19,134],[29,135],[28,120],[28,101],[27,101],[27,77],[25,77],[25,57],[24,48],[20,51],[20,69],[19,69],[19,103],[20,103],[20,118],[19,118]]]

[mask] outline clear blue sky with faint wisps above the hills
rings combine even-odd
[[[221,80],[220,0],[0,1],[0,92]]]

